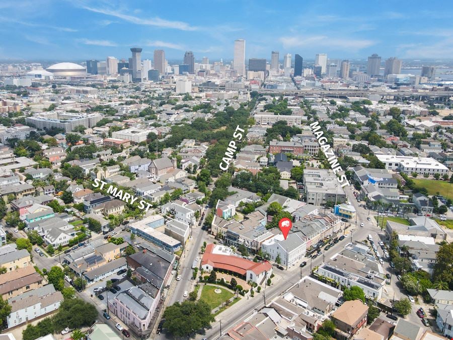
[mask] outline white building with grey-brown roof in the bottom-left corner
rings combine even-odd
[[[11,314],[7,318],[8,328],[57,310],[61,301],[63,295],[55,291],[53,285],[46,285],[9,299]]]

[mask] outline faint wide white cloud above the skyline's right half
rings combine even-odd
[[[357,51],[375,44],[372,40],[332,38],[324,35],[293,36],[280,38],[283,47],[331,47],[341,50]]]

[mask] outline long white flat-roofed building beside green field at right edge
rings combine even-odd
[[[397,170],[409,175],[416,172],[418,175],[425,173],[434,175],[448,174],[448,168],[430,157],[409,157],[394,155],[376,155],[378,159],[386,165],[388,170]]]

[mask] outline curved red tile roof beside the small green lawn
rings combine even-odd
[[[208,264],[213,268],[231,270],[241,275],[246,275],[247,270],[252,270],[256,275],[260,275],[263,271],[268,271],[272,268],[268,261],[253,262],[238,256],[213,254],[213,249],[214,244],[212,243],[206,246],[201,265]]]

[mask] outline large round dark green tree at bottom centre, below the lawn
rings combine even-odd
[[[190,336],[214,321],[211,308],[204,301],[176,302],[166,308],[164,319],[164,328],[174,337]]]

